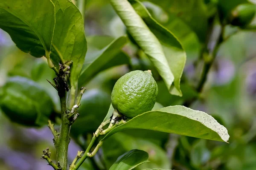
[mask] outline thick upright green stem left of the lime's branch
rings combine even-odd
[[[62,170],[67,170],[67,150],[70,142],[70,121],[67,119],[66,93],[60,96],[61,102],[61,133],[57,143],[57,162],[60,163]]]

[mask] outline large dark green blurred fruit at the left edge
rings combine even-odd
[[[1,88],[0,108],[12,122],[39,127],[47,124],[53,104],[36,82],[25,77],[12,77]]]

